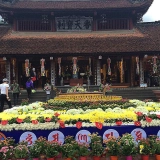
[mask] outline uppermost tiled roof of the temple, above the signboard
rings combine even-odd
[[[17,1],[12,5],[0,4],[1,7],[12,9],[111,9],[149,7],[153,0],[131,3],[130,0],[77,0],[77,1]]]

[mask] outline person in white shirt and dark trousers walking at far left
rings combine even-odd
[[[8,95],[9,90],[9,84],[7,78],[3,79],[3,83],[0,84],[0,91],[1,91],[1,106],[0,106],[0,112],[3,111],[4,108],[4,102],[8,104],[9,108],[12,108],[11,100]]]

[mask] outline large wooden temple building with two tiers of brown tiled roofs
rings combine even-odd
[[[153,0],[0,0],[0,78],[22,86],[159,86],[160,22]]]

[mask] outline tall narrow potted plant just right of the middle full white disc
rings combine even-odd
[[[91,143],[90,143],[91,155],[93,156],[94,160],[99,160],[104,152],[102,137],[99,136],[98,133],[92,133],[90,137],[91,137]]]

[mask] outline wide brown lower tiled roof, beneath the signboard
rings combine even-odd
[[[160,51],[160,23],[136,29],[88,33],[10,32],[0,41],[0,54],[128,53]]]

